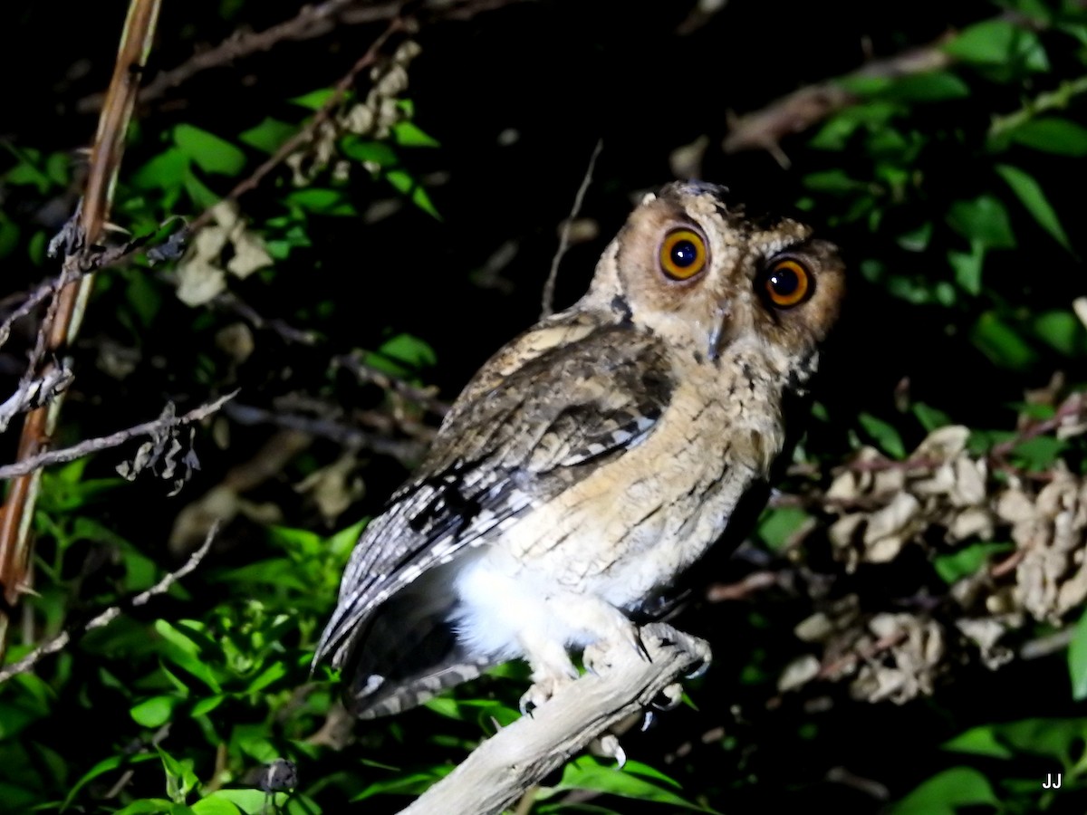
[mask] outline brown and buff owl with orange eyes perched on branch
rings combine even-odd
[[[588,292],[479,369],[363,531],[315,656],[348,706],[397,713],[523,659],[525,710],[578,676],[572,652],[639,649],[632,617],[765,484],[844,290],[801,223],[710,184],[646,196]]]

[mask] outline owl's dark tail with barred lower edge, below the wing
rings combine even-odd
[[[421,614],[407,599],[382,609],[352,656],[345,701],[366,719],[414,707],[498,664],[466,653],[445,614]]]

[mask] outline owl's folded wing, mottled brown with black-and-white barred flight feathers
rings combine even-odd
[[[315,661],[332,653],[342,667],[384,602],[638,443],[666,408],[672,378],[659,340],[613,325],[466,392],[417,477],[359,539]]]

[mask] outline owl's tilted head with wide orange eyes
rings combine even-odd
[[[749,217],[727,190],[677,183],[649,195],[604,251],[586,299],[722,364],[755,356],[800,384],[838,316],[837,248],[786,217]]]

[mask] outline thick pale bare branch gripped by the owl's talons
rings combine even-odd
[[[483,742],[400,815],[501,812],[592,739],[644,710],[677,677],[709,661],[703,641],[663,623],[642,628],[641,641],[650,661],[626,643],[609,648],[596,661],[599,673],[585,674],[532,716]]]

